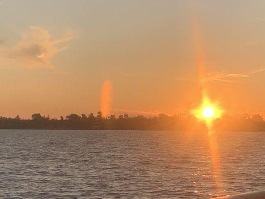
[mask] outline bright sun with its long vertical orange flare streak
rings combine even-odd
[[[195,5],[194,5],[195,6]],[[195,8],[195,7],[193,7]],[[194,38],[194,49],[196,59],[196,69],[198,75],[198,82],[200,83],[202,93],[202,104],[195,109],[191,110],[191,114],[195,115],[196,118],[206,123],[208,128],[208,140],[209,140],[209,151],[211,156],[212,175],[215,179],[215,187],[217,191],[222,189],[221,186],[221,169],[219,160],[218,143],[216,141],[216,135],[213,129],[213,121],[221,118],[224,110],[219,105],[219,102],[212,102],[207,95],[207,81],[205,81],[206,68],[204,59],[204,50],[202,46],[202,37],[198,24],[198,18],[196,16],[196,10],[192,10],[193,13],[193,38]]]

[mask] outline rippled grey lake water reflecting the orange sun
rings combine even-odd
[[[265,189],[265,133],[0,130],[1,199],[204,199]]]

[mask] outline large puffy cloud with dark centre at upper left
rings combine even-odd
[[[73,38],[73,31],[68,31],[54,39],[44,28],[30,26],[27,31],[21,34],[20,41],[11,48],[4,48],[1,55],[15,60],[24,67],[55,69],[51,63],[51,58],[66,49],[68,47],[66,43]]]

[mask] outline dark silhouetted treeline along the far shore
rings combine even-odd
[[[218,131],[265,131],[265,121],[256,115],[224,115],[213,123]],[[177,114],[168,116],[159,114],[156,117],[142,115],[129,117],[128,114],[102,117],[90,113],[70,114],[59,119],[33,114],[31,119],[0,117],[0,129],[80,129],[80,130],[206,130],[205,123],[193,115]]]

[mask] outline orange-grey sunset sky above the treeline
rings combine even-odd
[[[188,113],[201,80],[265,116],[264,0],[0,0],[0,24],[2,116]]]

